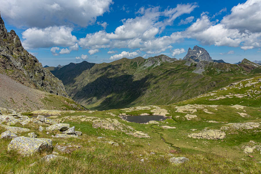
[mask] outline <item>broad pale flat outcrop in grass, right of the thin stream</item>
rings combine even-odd
[[[200,133],[189,134],[188,137],[192,138],[204,138],[204,139],[223,139],[226,137],[226,133],[219,130],[205,130]]]

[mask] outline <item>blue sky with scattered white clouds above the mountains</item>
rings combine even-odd
[[[0,3],[7,30],[43,66],[160,54],[179,59],[195,45],[229,63],[261,60],[261,0]]]

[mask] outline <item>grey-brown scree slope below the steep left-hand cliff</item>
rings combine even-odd
[[[43,108],[62,110],[83,109],[83,107],[72,99],[29,88],[1,73],[0,93],[0,107],[14,109],[19,112]]]

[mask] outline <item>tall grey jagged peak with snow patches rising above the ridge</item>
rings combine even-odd
[[[183,60],[189,60],[189,59],[193,62],[213,61],[209,53],[204,48],[198,46],[194,46],[193,50],[189,48],[188,53],[183,58]]]

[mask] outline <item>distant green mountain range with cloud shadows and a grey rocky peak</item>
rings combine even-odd
[[[89,109],[106,110],[171,104],[226,86],[247,74],[261,73],[261,68],[247,59],[239,65],[215,61],[204,48],[195,46],[183,60],[159,55],[102,64],[83,61],[50,71],[63,81],[75,101]]]

